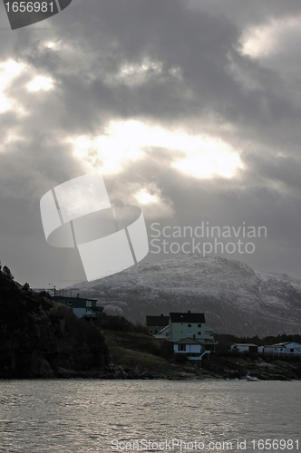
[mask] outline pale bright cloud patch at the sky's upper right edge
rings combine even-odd
[[[240,39],[242,53],[253,58],[277,53],[284,44],[295,42],[296,36],[301,36],[300,20],[300,16],[286,17],[248,28]]]

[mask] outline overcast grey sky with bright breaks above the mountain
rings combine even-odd
[[[300,21],[299,0],[73,0],[11,31],[1,2],[2,263],[22,284],[81,280],[39,202],[100,169],[149,233],[267,226],[224,256],[299,278]]]

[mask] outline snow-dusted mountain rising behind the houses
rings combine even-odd
[[[301,333],[301,281],[226,258],[177,255],[76,288],[131,321],[190,310],[205,313],[217,333]]]

